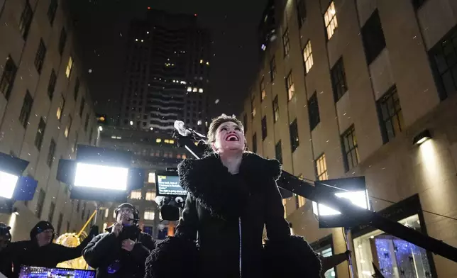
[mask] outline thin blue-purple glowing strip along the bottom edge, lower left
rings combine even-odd
[[[95,278],[93,270],[48,268],[48,267],[21,267],[19,278]]]

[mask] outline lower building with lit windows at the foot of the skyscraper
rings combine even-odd
[[[170,135],[160,136],[149,130],[104,126],[100,133],[99,145],[130,152],[132,167],[145,169],[144,187],[131,191],[128,202],[140,211],[141,229],[154,238],[165,238],[169,224],[161,221],[158,206],[155,203],[155,171],[165,171],[167,168],[176,168],[178,162],[187,157],[185,148],[177,148],[175,140]],[[110,226],[114,221],[114,209],[119,204],[113,204],[104,213],[103,226]],[[172,223],[173,226],[173,223]]]

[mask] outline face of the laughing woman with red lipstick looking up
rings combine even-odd
[[[243,152],[244,142],[243,130],[236,123],[226,122],[217,128],[213,148],[219,154],[228,151]]]

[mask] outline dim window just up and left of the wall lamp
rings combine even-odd
[[[389,142],[404,129],[402,106],[397,94],[397,87],[392,87],[378,100],[382,140]]]

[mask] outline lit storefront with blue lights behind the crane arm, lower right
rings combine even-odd
[[[426,233],[417,195],[392,205],[380,213],[404,226]],[[372,277],[375,265],[385,278],[436,277],[430,252],[405,240],[368,226],[352,230],[353,250],[358,277]]]

